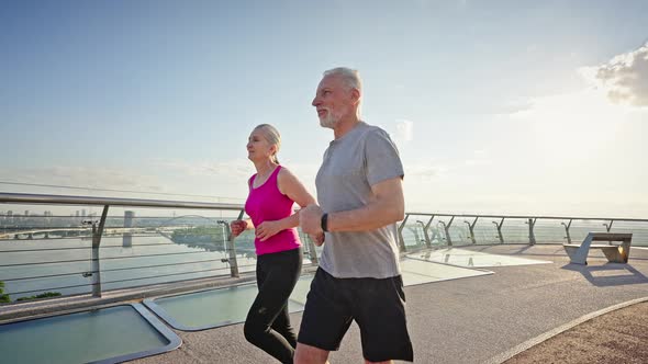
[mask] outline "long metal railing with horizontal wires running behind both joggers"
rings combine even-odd
[[[57,196],[44,204],[15,204],[3,195],[0,212],[0,287],[5,303],[40,295],[97,294],[157,283],[228,277],[256,269],[254,230],[245,231],[232,244],[228,223],[238,218],[242,206],[187,208],[182,203],[144,201],[137,206],[110,206],[100,244],[93,248],[104,209],[88,197],[88,205],[65,205]],[[69,196],[67,196],[69,197]],[[103,200],[102,200],[103,201]],[[123,201],[121,203],[124,203]],[[203,203],[190,203],[202,207]],[[142,206],[156,207],[142,207]],[[161,206],[161,207],[160,207]],[[222,206],[222,205],[221,205]],[[20,213],[19,213],[20,212]],[[405,250],[472,244],[470,227],[476,216],[410,215],[401,229]],[[245,217],[245,216],[244,216]],[[502,218],[504,221],[502,223]],[[533,241],[580,242],[590,231],[633,232],[634,246],[648,246],[648,220],[588,218],[534,218]],[[498,226],[501,224],[501,236]],[[474,243],[529,243],[529,217],[479,216],[472,226]],[[93,232],[94,231],[94,232]],[[299,229],[298,229],[299,231]],[[322,247],[314,247],[299,231],[304,243],[304,266],[316,264]],[[93,236],[94,235],[94,236]],[[232,248],[233,247],[233,248]],[[93,261],[93,258],[97,258]],[[234,261],[236,266],[234,268]],[[9,296],[7,296],[9,295]]]

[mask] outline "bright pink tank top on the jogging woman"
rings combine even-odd
[[[257,175],[249,179],[249,195],[245,202],[245,213],[252,218],[255,226],[262,221],[280,220],[292,215],[294,202],[279,191],[277,175],[281,166],[277,166],[266,183],[253,187]],[[254,240],[257,255],[276,253],[284,250],[292,250],[301,247],[299,235],[295,228],[277,232],[266,241],[258,238]]]

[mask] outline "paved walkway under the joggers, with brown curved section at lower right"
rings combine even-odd
[[[638,342],[647,340],[648,304],[597,315],[648,296],[648,250],[633,247],[628,264],[607,263],[592,251],[583,266],[569,264],[560,244],[461,249],[550,263],[484,266],[494,274],[405,287],[416,363],[646,362],[648,352]],[[291,318],[299,327],[301,312]],[[180,349],[133,363],[273,363],[246,342],[242,323],[176,332]],[[353,325],[329,361],[362,363],[361,357]]]

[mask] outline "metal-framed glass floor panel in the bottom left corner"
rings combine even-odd
[[[3,363],[118,363],[180,345],[141,305],[0,325],[0,337]]]

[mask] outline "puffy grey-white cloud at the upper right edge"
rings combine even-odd
[[[580,73],[618,104],[648,106],[648,43],[608,62],[583,67]]]

